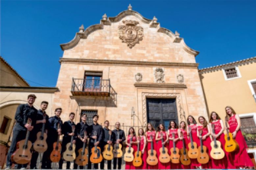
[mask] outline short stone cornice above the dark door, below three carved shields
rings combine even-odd
[[[134,86],[147,88],[187,88],[187,85],[178,83],[135,83]]]

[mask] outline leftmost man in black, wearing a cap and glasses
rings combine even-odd
[[[28,95],[27,104],[21,104],[18,106],[16,113],[15,113],[15,126],[13,127],[13,139],[11,146],[8,151],[7,160],[6,160],[6,169],[10,169],[12,166],[11,156],[13,152],[16,150],[16,144],[18,141],[25,139],[27,130],[32,131],[34,128],[34,125],[37,121],[37,109],[33,107],[33,103],[35,102],[36,95],[30,94]],[[31,119],[31,125],[28,124],[28,119]],[[33,143],[35,138],[33,135],[29,136],[29,140]],[[17,165],[15,166],[15,169],[17,168],[25,168],[27,165]]]

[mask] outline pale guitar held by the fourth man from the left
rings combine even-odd
[[[75,132],[75,126],[73,125],[72,133],[74,133],[74,132]],[[73,161],[76,158],[76,153],[75,153],[76,146],[75,146],[75,144],[72,143],[73,140],[74,140],[74,135],[72,135],[70,143],[68,143],[66,145],[66,150],[63,153],[63,158],[65,161]]]

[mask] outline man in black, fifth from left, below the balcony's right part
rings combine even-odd
[[[85,113],[81,116],[81,122],[76,125],[76,157],[79,155],[78,150],[81,149],[84,143],[87,143],[89,136],[89,125],[86,123],[87,115]],[[85,135],[86,132],[86,136]],[[78,165],[74,162],[74,169],[77,169]],[[84,169],[83,166],[79,166],[79,169]]]

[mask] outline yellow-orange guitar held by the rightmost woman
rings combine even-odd
[[[226,124],[226,134],[224,136],[225,138],[225,151],[227,152],[234,152],[236,151],[237,149],[239,149],[239,145],[237,143],[237,141],[233,138],[233,134],[231,134],[229,131],[228,131],[228,118],[226,117],[226,121],[225,121],[225,124]]]

